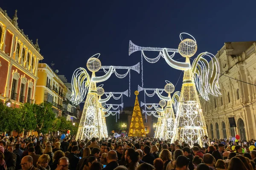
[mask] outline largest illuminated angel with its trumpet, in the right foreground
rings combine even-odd
[[[191,65],[189,59],[195,55],[197,44],[195,38],[191,35],[189,36],[192,38],[183,40],[182,35],[184,34],[189,35],[187,33],[180,34],[181,42],[178,49],[140,47],[130,42],[129,54],[134,51],[142,51],[142,56],[152,63],[157,62],[162,56],[171,67],[184,71],[172,143],[179,140],[189,143],[189,145],[195,142],[202,145],[202,138],[207,135],[207,129],[196,86],[205,100],[209,100],[210,94],[213,96],[221,95],[218,84],[220,68],[216,57],[208,52],[199,54]],[[143,51],[160,51],[160,53],[157,58],[149,59],[145,57]],[[169,55],[168,52],[172,52],[172,54]],[[176,53],[185,57],[186,62],[177,62],[172,59]],[[207,58],[210,59],[210,62],[207,61]]]

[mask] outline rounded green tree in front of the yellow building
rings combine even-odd
[[[35,131],[40,133],[49,133],[55,119],[55,113],[52,111],[52,104],[44,102],[39,105],[33,105],[33,111],[36,121]]]

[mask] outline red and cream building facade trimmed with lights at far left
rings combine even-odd
[[[0,8],[0,99],[15,107],[34,101],[38,62],[43,59],[38,40],[29,40],[17,20],[17,10],[11,19]]]

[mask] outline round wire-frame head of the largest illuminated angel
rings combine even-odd
[[[189,38],[180,42],[178,52],[182,57],[192,57],[197,51],[197,45],[194,40]]]

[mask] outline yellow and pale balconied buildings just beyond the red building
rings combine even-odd
[[[76,106],[70,102],[70,89],[67,88],[61,80],[64,76],[61,75],[60,77],[52,71],[46,63],[38,64],[35,103],[52,103],[52,108],[56,113],[56,117],[65,116],[67,117],[67,120],[73,121],[73,119],[77,119],[77,109]],[[65,83],[67,83],[67,81]]]

